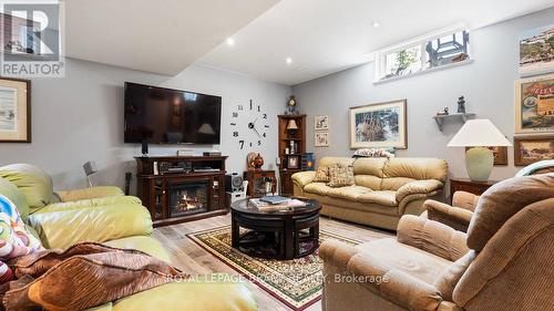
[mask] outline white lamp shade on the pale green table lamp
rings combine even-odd
[[[512,146],[512,143],[490,120],[469,120],[452,137],[449,147],[496,147]]]

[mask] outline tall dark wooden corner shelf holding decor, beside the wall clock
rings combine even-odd
[[[293,194],[293,174],[301,172],[301,157],[306,153],[306,115],[279,115],[278,151],[280,158],[280,193]]]

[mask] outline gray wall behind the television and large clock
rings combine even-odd
[[[82,165],[93,159],[100,169],[93,176],[98,184],[123,186],[125,172],[136,172],[133,156],[141,153],[140,145],[123,144],[125,81],[222,96],[222,144],[194,148],[197,154],[220,149],[229,156],[229,172],[244,170],[249,152],[248,148],[240,151],[237,141],[232,138],[232,112],[237,104],[246,105],[253,99],[268,113],[271,126],[261,147],[253,149],[261,152],[266,167],[275,163],[276,115],[284,111],[291,91],[289,86],[202,65],[189,66],[170,77],[70,59],[64,79],[32,81],[32,144],[0,144],[0,165],[39,165],[53,176],[55,188],[65,189],[85,186]],[[240,124],[246,132],[246,118]],[[174,155],[176,149],[151,146],[150,154]],[[133,191],[134,188],[133,178]]]

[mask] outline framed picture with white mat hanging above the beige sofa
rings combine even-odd
[[[408,148],[407,100],[350,108],[350,148]]]

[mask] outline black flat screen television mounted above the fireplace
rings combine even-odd
[[[219,144],[222,97],[125,82],[125,143]]]

